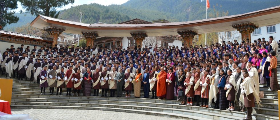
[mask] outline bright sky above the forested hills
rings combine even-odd
[[[129,1],[129,0],[75,0],[75,2],[73,4],[68,4],[68,5],[63,6],[61,8],[58,8],[57,10],[68,9],[71,6],[90,4],[90,3],[97,3],[97,4],[101,4],[101,5],[105,5],[105,6],[108,6],[108,5],[111,5],[111,4],[121,5],[123,3],[126,3],[127,1]],[[19,2],[17,2],[17,7],[18,8],[15,10],[16,12],[19,12],[20,10],[23,9]]]

